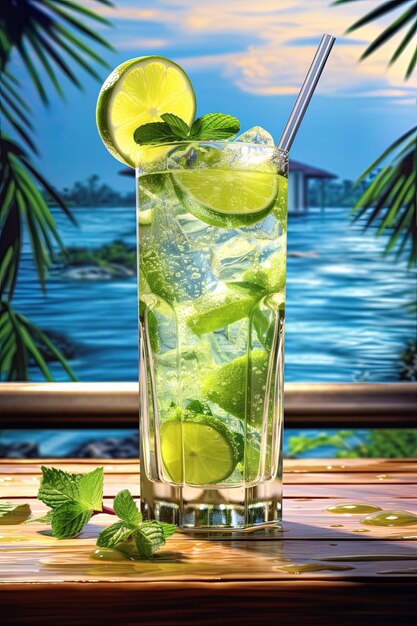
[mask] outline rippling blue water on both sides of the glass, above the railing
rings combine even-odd
[[[54,210],[68,246],[135,242],[130,208],[76,208],[78,227]],[[290,217],[285,378],[297,382],[384,382],[398,379],[399,355],[416,335],[404,308],[415,297],[416,273],[384,259],[384,241],[347,209],[312,210]],[[44,329],[78,346],[71,365],[81,381],[135,381],[136,281],[79,281],[52,273],[47,294],[38,288],[28,243],[14,306]],[[57,380],[67,380],[59,366]],[[42,380],[33,372],[34,380]]]

